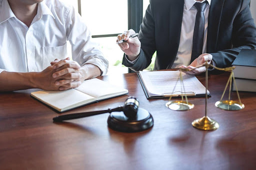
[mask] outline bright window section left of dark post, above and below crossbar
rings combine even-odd
[[[127,0],[81,0],[81,16],[109,62],[107,74],[127,73],[116,36],[127,30]],[[107,37],[104,37],[107,36]]]

